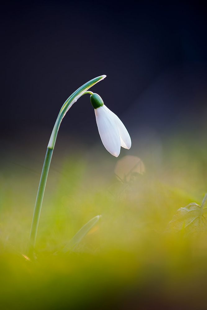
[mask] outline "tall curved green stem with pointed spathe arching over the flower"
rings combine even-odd
[[[97,78],[92,79],[91,81],[85,83],[83,86],[79,87],[70,97],[65,101],[63,104],[58,117],[56,119],[55,125],[52,130],[52,134],[50,136],[50,140],[47,146],[47,151],[45,155],[45,160],[43,163],[43,169],[40,177],[40,182],[39,182],[39,187],[38,187],[38,193],[37,193],[37,198],[35,202],[35,207],[34,207],[34,214],[33,214],[33,219],[32,219],[32,226],[31,226],[31,231],[30,231],[30,250],[34,249],[35,247],[35,242],[36,242],[36,237],[37,237],[37,230],[38,230],[38,223],[39,223],[39,216],[40,216],[40,211],[42,207],[42,202],[43,202],[43,196],[44,196],[44,191],[45,191],[45,185],[47,182],[47,175],[50,167],[50,162],[52,158],[52,153],[55,147],[55,142],[57,139],[57,134],[58,130],[60,128],[60,124],[63,120],[63,117],[65,114],[68,112],[68,110],[71,108],[71,106],[84,94],[86,93],[92,93],[88,91],[90,87],[95,85],[96,83],[100,82],[106,78],[106,75],[101,75]]]

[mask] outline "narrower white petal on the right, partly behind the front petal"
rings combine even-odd
[[[119,135],[120,135],[121,146],[123,148],[130,149],[131,145],[132,145],[132,141],[131,141],[130,135],[129,135],[126,127],[124,126],[122,121],[119,119],[119,117],[115,113],[113,113],[109,108],[107,108],[105,104],[103,105],[103,108],[106,112],[109,113],[109,115],[111,117],[113,117],[113,119],[115,121],[115,124],[118,128]]]

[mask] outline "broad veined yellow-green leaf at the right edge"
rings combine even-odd
[[[167,230],[179,232],[185,229],[187,232],[204,231],[207,228],[207,219],[203,215],[203,208],[192,202],[184,208],[177,210],[173,219],[169,222]]]

